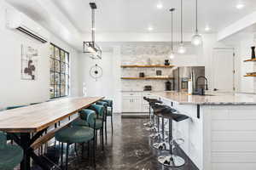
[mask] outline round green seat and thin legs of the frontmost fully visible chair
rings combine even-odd
[[[96,115],[93,116],[96,119]],[[95,121],[94,121],[95,122]],[[82,157],[84,153],[84,143],[88,143],[88,148],[90,148],[90,140],[95,140],[95,130],[91,127],[85,126],[73,126],[65,127],[55,133],[55,139],[61,142],[61,169],[63,168],[63,143],[67,143],[66,150],[66,170],[68,167],[68,150],[70,144],[81,143],[83,146]],[[95,141],[93,141],[93,159],[95,165]]]

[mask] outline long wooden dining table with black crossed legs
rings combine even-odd
[[[38,105],[28,105],[0,112],[0,131],[10,133],[16,144],[24,150],[23,160],[20,163],[20,170],[30,170],[31,158],[43,169],[45,164],[35,154],[34,150],[55,136],[55,132],[66,127],[73,120],[63,123],[57,127],[58,122],[67,119],[79,111],[89,107],[104,97],[83,97],[55,99]],[[48,127],[55,126],[55,129],[47,132]],[[20,135],[17,135],[20,133]]]

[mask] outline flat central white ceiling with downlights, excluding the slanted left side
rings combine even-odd
[[[52,0],[79,31],[90,31],[89,0]],[[209,25],[213,31],[229,26],[256,9],[255,0],[242,0],[246,7],[238,10],[241,0],[198,0],[199,25],[204,31]],[[161,0],[164,8],[156,8],[159,0],[97,0],[96,31],[145,32],[153,26],[156,32],[170,32],[169,8],[177,8],[175,28],[179,31],[180,0]],[[195,29],[195,0],[183,0],[184,31]]]

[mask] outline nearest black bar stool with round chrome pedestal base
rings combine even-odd
[[[172,121],[174,120],[175,122],[181,122],[188,119],[189,116],[177,114],[174,112],[177,111],[171,108],[168,111],[162,111],[157,113],[158,116],[164,117],[169,120],[169,154],[158,157],[158,161],[160,162],[160,164],[166,167],[182,167],[185,164],[185,161],[182,157],[173,154],[174,144],[177,143],[177,139],[173,139],[172,136]]]

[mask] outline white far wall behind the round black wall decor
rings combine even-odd
[[[120,112],[120,64],[119,47],[102,53],[102,59],[90,59],[87,54],[79,54],[80,91],[86,96],[104,96],[113,99],[113,111]],[[90,68],[99,65],[102,67],[102,77],[95,80],[90,77]]]

